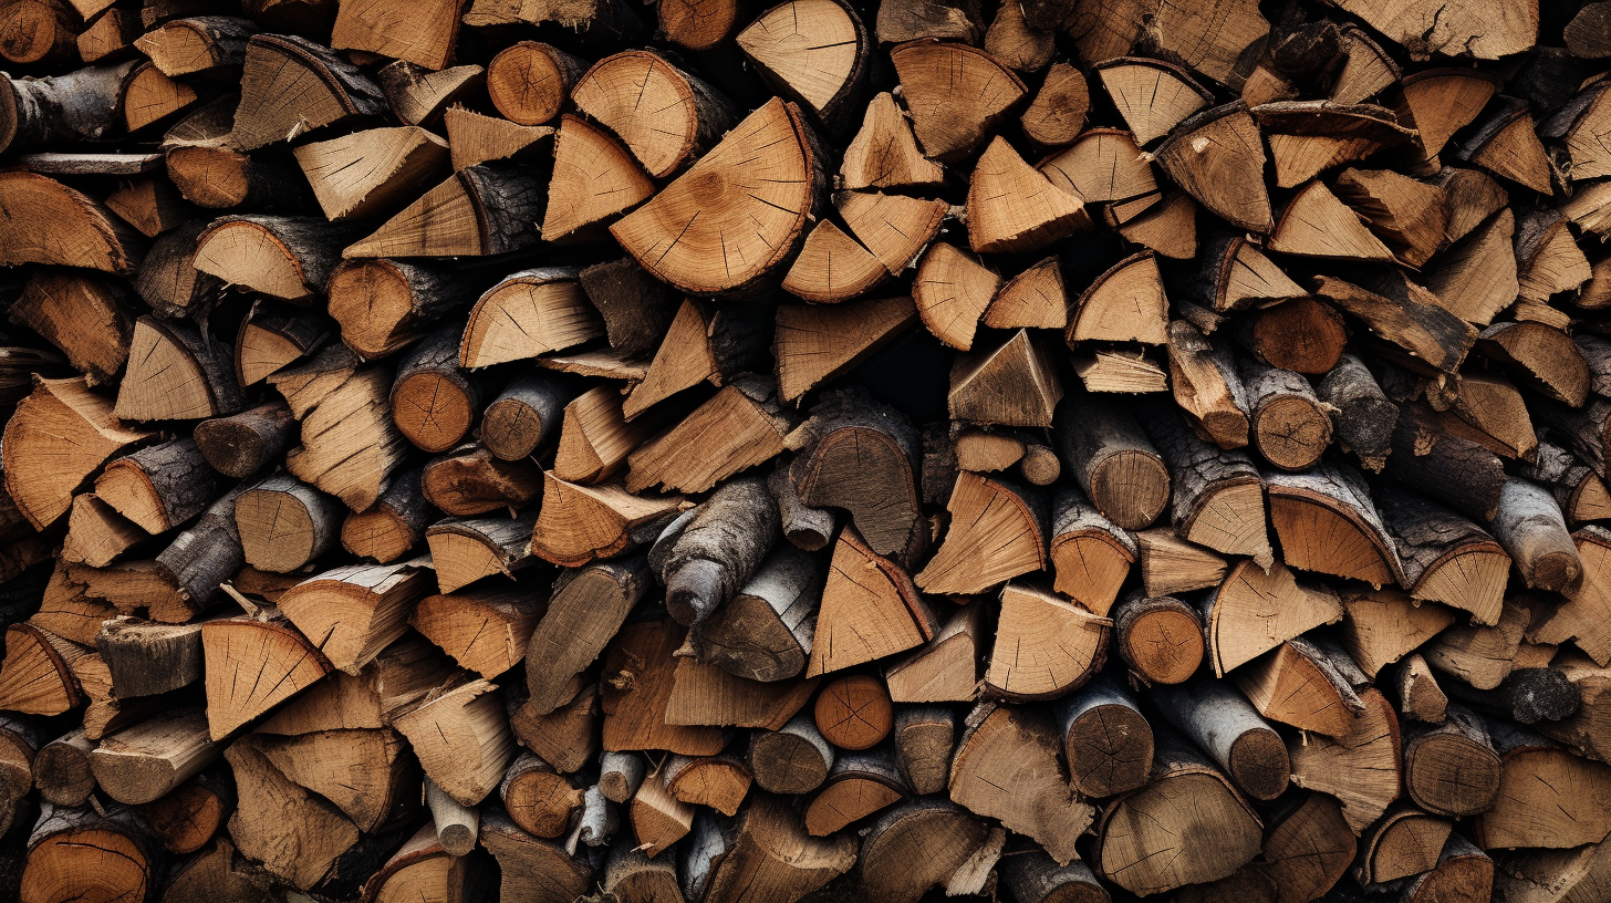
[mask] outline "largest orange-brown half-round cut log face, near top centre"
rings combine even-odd
[[[691,295],[744,289],[804,237],[823,177],[810,142],[799,111],[773,100],[611,234],[644,269]],[[746,239],[728,245],[728,234]]]

